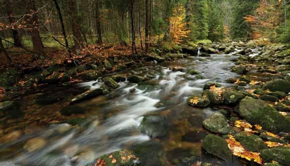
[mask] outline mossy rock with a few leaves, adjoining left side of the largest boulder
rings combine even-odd
[[[226,90],[222,93],[224,103],[227,105],[238,104],[245,95],[238,91]]]

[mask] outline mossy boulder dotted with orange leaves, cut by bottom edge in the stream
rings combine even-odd
[[[105,163],[103,166],[133,166],[136,158],[137,157],[132,151],[120,150],[102,155],[97,159],[97,162],[99,163],[92,166],[101,165],[102,161]]]

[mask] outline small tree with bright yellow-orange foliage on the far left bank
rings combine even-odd
[[[172,17],[170,17],[170,38],[178,44],[181,44],[183,39],[188,38],[191,32],[187,28],[187,23],[184,21],[186,16],[185,7],[180,3],[174,8]]]

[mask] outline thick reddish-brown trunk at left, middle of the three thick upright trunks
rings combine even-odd
[[[32,11],[36,11],[36,6],[34,0],[28,0],[29,4],[29,11],[28,13]],[[30,27],[30,34],[31,34],[31,39],[32,39],[32,44],[33,44],[33,49],[34,52],[37,54],[35,59],[39,58],[39,56],[44,56],[44,46],[40,37],[40,30],[39,30],[39,25],[38,25],[38,16],[37,13],[32,14],[29,22],[31,24]]]

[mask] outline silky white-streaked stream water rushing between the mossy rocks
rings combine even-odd
[[[137,73],[154,72],[155,77],[139,85],[127,81],[119,83],[120,87],[109,95],[79,103],[78,106],[88,110],[86,121],[79,126],[50,124],[0,145],[0,166],[86,166],[97,157],[120,149],[140,152],[140,162],[146,166],[159,166],[158,161],[164,166],[182,165],[176,160],[191,156],[217,166],[243,166],[239,160],[225,163],[201,150],[201,139],[208,133],[202,128],[202,121],[219,108],[193,108],[186,103],[188,96],[201,94],[207,82],[230,86],[225,80],[237,76],[230,72],[234,58],[234,55],[212,54],[206,58],[189,57],[136,69]],[[192,80],[187,80],[186,73],[170,70],[174,66],[197,70],[203,77],[191,76]],[[38,112],[50,114],[61,109],[71,99],[69,95],[74,89],[99,86],[100,81],[73,87],[47,87],[52,94],[67,98],[39,107]],[[26,109],[35,108],[31,100],[26,102]],[[168,128],[160,128],[168,129],[166,136],[150,138],[140,131],[143,116],[148,114],[166,117]],[[42,138],[45,146],[32,152],[24,150],[24,144],[31,138]]]

